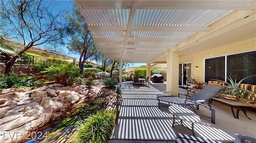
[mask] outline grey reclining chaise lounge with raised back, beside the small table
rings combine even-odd
[[[194,110],[194,112],[196,114],[198,114],[196,112],[196,110],[199,110],[199,105],[201,105],[201,106],[206,107],[211,110],[211,112],[212,112],[211,117],[204,116],[201,114],[198,114],[198,115],[206,117],[206,118],[210,118],[212,123],[215,123],[215,110],[211,108],[209,100],[213,96],[217,95],[218,92],[222,88],[223,88],[222,86],[215,86],[215,85],[208,84],[208,85],[204,86],[204,88],[200,92],[198,92],[192,96],[182,94],[182,93],[178,93],[178,97],[177,96],[168,96],[165,94],[158,94],[157,95],[158,108],[160,108],[160,102],[163,102],[164,104],[166,104],[166,103],[167,104],[176,104],[179,106],[184,106],[185,108],[186,108],[186,106],[190,106]],[[186,96],[186,99],[180,98],[180,95]],[[204,105],[203,104],[204,102],[208,102],[208,106]]]

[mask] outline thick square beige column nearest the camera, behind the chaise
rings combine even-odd
[[[166,91],[177,95],[179,92],[179,52],[169,49],[166,60]]]

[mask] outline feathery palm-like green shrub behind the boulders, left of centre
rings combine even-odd
[[[60,64],[58,66],[50,66],[41,71],[46,77],[55,78],[55,82],[62,85],[72,85],[74,81],[80,81],[80,69],[77,65]]]

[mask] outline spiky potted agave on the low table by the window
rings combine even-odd
[[[252,75],[252,76],[256,76],[256,74]],[[241,84],[241,82],[244,79],[252,77],[252,76],[247,76],[247,77],[243,78],[242,80],[240,80],[238,83],[236,82],[236,79],[233,80],[231,78],[231,76],[229,76],[229,78],[227,78],[230,83],[222,81],[222,80],[214,79],[214,80],[217,80],[220,82],[224,82],[227,85],[226,88],[224,88],[223,90],[220,90],[220,97],[230,99],[230,100],[240,100],[242,102],[246,102],[244,100],[244,92],[251,93],[251,91],[239,88],[240,87],[239,85]]]

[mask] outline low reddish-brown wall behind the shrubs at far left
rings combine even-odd
[[[5,63],[0,63],[0,73],[4,74]],[[38,73],[35,69],[33,69],[30,65],[24,64],[14,64],[14,73],[16,74],[24,74],[24,75],[33,75]]]

